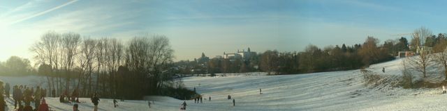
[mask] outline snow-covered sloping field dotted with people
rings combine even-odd
[[[367,68],[374,74],[401,76],[402,60],[393,60]],[[381,72],[382,67],[386,73]],[[12,78],[0,79],[13,83]],[[203,94],[203,103],[186,101],[186,110],[446,110],[447,94],[441,89],[402,89],[383,85],[365,85],[359,69],[314,74],[265,76],[265,74],[228,74],[215,77],[183,78],[184,85]],[[20,80],[18,80],[20,81]],[[263,94],[259,94],[259,89]],[[236,101],[227,99],[231,95]],[[211,101],[207,100],[211,96]],[[166,96],[149,96],[154,101],[149,109],[147,101],[119,102],[101,99],[100,110],[179,110],[182,100]],[[80,110],[92,110],[89,99],[81,99]],[[13,102],[8,110],[13,110]],[[71,110],[72,104],[47,98],[53,110]]]

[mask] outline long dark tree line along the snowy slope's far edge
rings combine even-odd
[[[442,35],[442,34],[440,34]],[[437,40],[435,37],[434,40]],[[429,43],[427,43],[429,44]],[[179,74],[219,74],[266,71],[268,74],[303,74],[321,71],[359,69],[395,59],[399,51],[414,51],[409,48],[406,37],[386,40],[379,44],[375,37],[367,37],[362,44],[325,46],[323,49],[309,44],[304,51],[279,52],[268,50],[249,59],[212,58],[207,62],[182,60],[175,66]],[[200,71],[193,71],[200,69]]]

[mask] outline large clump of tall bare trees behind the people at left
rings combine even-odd
[[[31,51],[41,66],[39,74],[47,76],[47,87],[58,95],[78,89],[80,96],[122,98],[124,93],[139,93],[129,94],[138,99],[163,86],[163,73],[173,60],[169,40],[161,35],[134,37],[124,45],[115,38],[82,39],[78,33],[50,31]],[[133,87],[133,92],[123,92],[126,87]]]

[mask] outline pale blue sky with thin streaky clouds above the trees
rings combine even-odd
[[[446,33],[446,1],[0,0],[0,61],[29,58],[43,33],[82,37],[166,35],[175,60],[239,50],[303,51],[309,44],[395,40],[421,26]],[[409,39],[409,37],[407,37]]]

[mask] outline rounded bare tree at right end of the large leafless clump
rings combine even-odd
[[[161,88],[161,78],[168,71],[173,58],[173,49],[167,37],[134,37],[126,49],[126,66],[135,74],[133,83],[141,86],[137,89],[142,90],[135,92],[145,93],[149,92],[149,89]],[[149,93],[154,92],[152,90]]]

